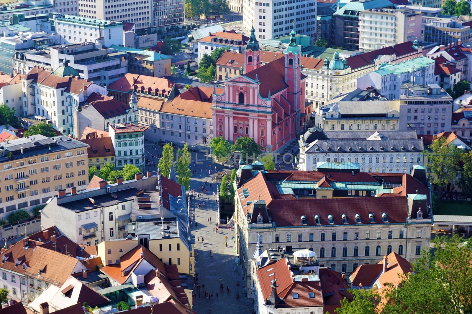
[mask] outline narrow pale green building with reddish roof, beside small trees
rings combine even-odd
[[[148,127],[132,123],[109,125],[111,142],[115,148],[116,169],[123,169],[126,164],[144,168],[144,131]]]

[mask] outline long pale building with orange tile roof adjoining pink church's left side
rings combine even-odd
[[[139,98],[139,124],[149,127],[146,138],[189,145],[209,144],[213,137],[213,89],[194,87],[177,96],[176,90],[174,85],[171,96],[165,101]],[[223,89],[216,91],[221,93]]]

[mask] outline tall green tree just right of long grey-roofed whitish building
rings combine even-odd
[[[454,145],[447,145],[446,138],[440,137],[425,151],[428,167],[433,172],[432,183],[438,186],[439,195],[447,184],[455,178],[459,156]]]

